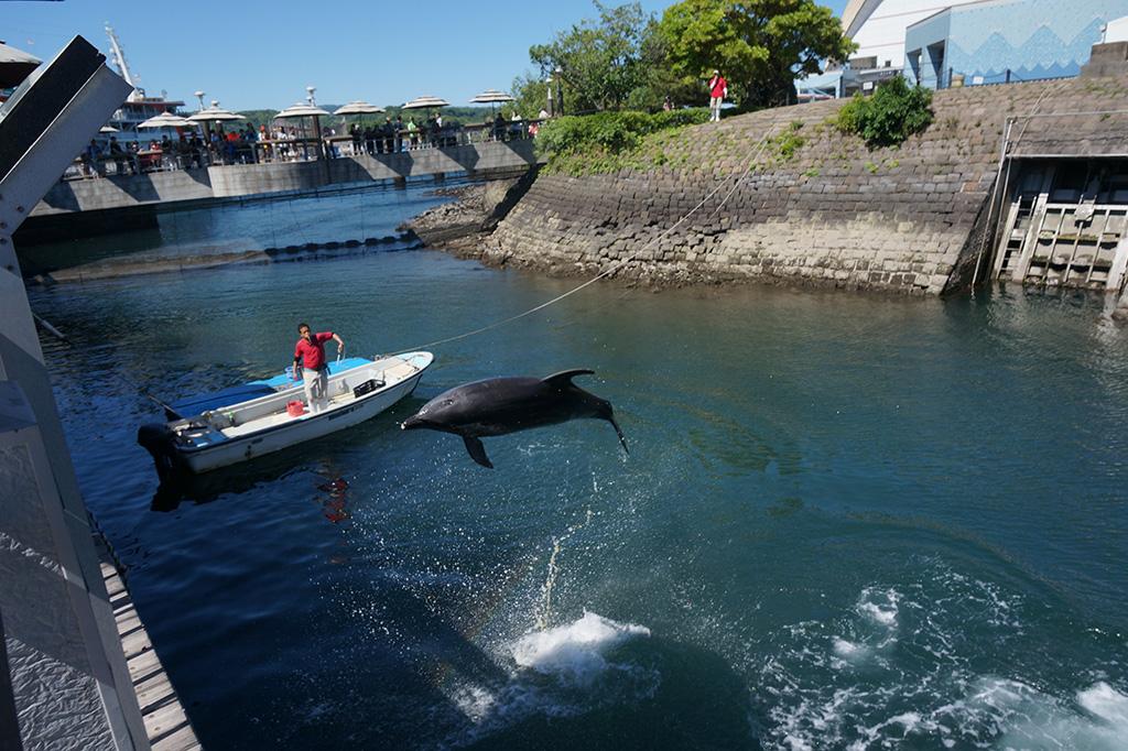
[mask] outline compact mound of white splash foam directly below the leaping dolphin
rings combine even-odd
[[[578,687],[588,687],[608,668],[603,653],[627,639],[650,636],[650,629],[620,624],[584,611],[571,624],[519,638],[512,646],[513,661],[541,674]]]

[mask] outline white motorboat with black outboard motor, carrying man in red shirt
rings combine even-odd
[[[335,433],[374,417],[415,390],[433,361],[408,352],[329,374],[328,407],[310,412],[300,382],[167,423],[142,425],[138,443],[152,454],[164,479],[176,471],[205,472]]]

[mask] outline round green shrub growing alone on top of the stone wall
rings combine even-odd
[[[900,145],[932,123],[932,91],[897,78],[871,97],[857,94],[838,111],[838,130],[862,136],[870,148]]]

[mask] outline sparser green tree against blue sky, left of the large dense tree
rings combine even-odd
[[[569,112],[618,109],[645,83],[642,50],[653,18],[637,2],[594,5],[598,20],[584,19],[549,44],[529,48],[541,78],[563,78]]]

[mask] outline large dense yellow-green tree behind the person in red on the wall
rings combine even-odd
[[[730,95],[754,107],[794,101],[796,76],[855,48],[814,0],[682,0],[667,8],[659,34],[675,74],[700,81],[720,69]]]

